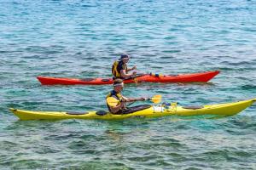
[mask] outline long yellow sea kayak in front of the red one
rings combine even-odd
[[[103,119],[120,120],[131,117],[160,117],[160,116],[234,116],[253,105],[256,99],[247,99],[243,101],[203,106],[179,106],[176,103],[172,105],[139,105],[131,109],[131,112],[121,115],[113,115],[107,111],[88,111],[88,112],[65,112],[65,111],[22,111],[11,108],[15,116],[20,120],[57,120],[57,119]]]

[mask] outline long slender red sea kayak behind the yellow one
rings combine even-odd
[[[207,71],[192,74],[158,75],[144,74],[124,80],[125,83],[137,82],[208,82],[218,75],[219,71]],[[61,78],[61,77],[37,77],[42,85],[104,85],[112,84],[113,78]]]

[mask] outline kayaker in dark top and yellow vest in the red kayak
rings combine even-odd
[[[137,68],[136,66],[133,66],[131,69],[127,68],[126,64],[129,59],[130,56],[128,54],[121,54],[120,59],[118,61],[114,61],[112,66],[113,79],[129,79],[137,74],[137,71],[134,71]],[[133,72],[129,73],[130,71]]]

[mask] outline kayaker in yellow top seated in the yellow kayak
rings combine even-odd
[[[122,79],[115,79],[113,81],[113,91],[111,91],[106,97],[106,103],[108,106],[108,111],[113,114],[122,114],[126,110],[125,103],[133,101],[143,101],[147,98],[126,98],[121,94],[124,88],[124,82]],[[111,99],[112,98],[112,99]],[[117,100],[117,103],[116,101]],[[113,103],[111,103],[113,102]]]

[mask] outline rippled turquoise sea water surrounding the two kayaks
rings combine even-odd
[[[256,106],[220,119],[21,122],[8,108],[105,109],[110,86],[41,86],[37,76],[220,70],[210,83],[125,86],[126,96],[210,105],[256,97],[255,1],[0,1],[1,169],[256,169]]]

